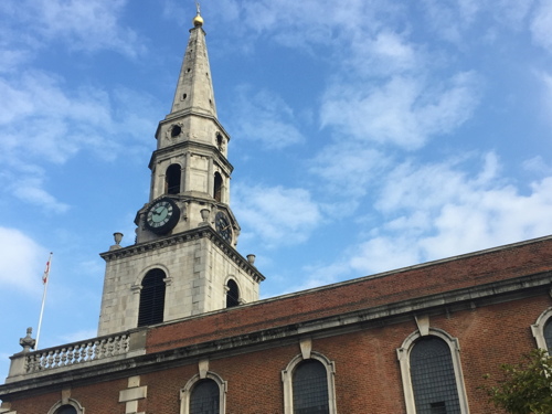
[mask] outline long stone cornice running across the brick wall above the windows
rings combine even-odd
[[[544,272],[348,314],[315,318],[307,322],[263,329],[187,347],[176,344],[170,350],[126,358],[109,363],[59,370],[51,374],[43,372],[36,376],[0,385],[0,397],[8,394],[13,397],[41,394],[59,390],[64,383],[76,386],[145,374],[193,363],[205,357],[217,359],[257,349],[269,349],[285,343],[294,343],[305,336],[311,338],[331,337],[348,331],[382,327],[412,319],[420,314],[438,315],[477,309],[486,305],[548,294],[551,283],[552,272]]]

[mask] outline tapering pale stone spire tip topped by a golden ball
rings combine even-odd
[[[172,109],[167,118],[185,113],[216,117],[205,31],[203,30],[203,18],[200,14],[199,6],[198,14],[192,22],[193,29],[190,29],[190,40],[180,70]]]

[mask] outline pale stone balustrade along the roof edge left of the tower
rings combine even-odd
[[[41,372],[84,362],[97,361],[128,352],[129,335],[93,338],[25,355],[25,373]]]

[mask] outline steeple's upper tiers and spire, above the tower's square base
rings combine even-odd
[[[159,229],[150,225],[148,229],[148,214],[158,219],[157,210],[142,210],[138,212],[136,223],[140,225],[146,220],[146,226],[138,230],[138,242],[191,230],[205,222],[214,224],[217,217],[225,215],[225,237],[235,245],[240,226],[229,205],[233,170],[226,159],[230,136],[216,118],[205,31],[199,7],[193,25],[171,112],[159,123],[157,150],[149,163],[150,202],[170,198],[176,202],[173,210],[178,208],[182,213],[182,220],[172,222],[176,224],[168,231],[161,230],[171,223]],[[210,213],[205,221],[206,210]]]

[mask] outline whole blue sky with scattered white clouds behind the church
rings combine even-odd
[[[262,297],[552,233],[552,2],[205,0],[238,251]],[[96,335],[191,0],[0,3],[0,378]]]

